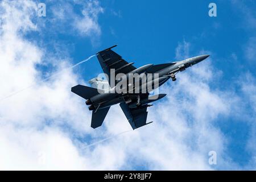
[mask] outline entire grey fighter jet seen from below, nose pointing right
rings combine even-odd
[[[176,74],[178,72],[182,72],[209,57],[209,55],[200,55],[172,63],[147,64],[135,68],[133,66],[134,63],[128,63],[122,59],[122,56],[112,51],[112,48],[116,46],[96,53],[97,59],[108,80],[108,88],[101,89],[101,87],[93,88],[83,85],[76,85],[71,88],[71,92],[84,98],[86,100],[85,104],[88,105],[89,110],[92,110],[91,127],[93,129],[102,125],[110,107],[115,104],[121,106],[133,129],[138,129],[151,123],[147,123],[147,107],[152,106],[151,102],[160,100],[166,94],[150,96],[150,92],[159,88],[170,78],[172,81],[176,81]],[[122,75],[119,80],[116,78],[118,74]],[[130,78],[130,75],[135,74],[137,74],[137,77],[143,76],[138,79],[139,81],[134,81],[133,78],[131,82],[126,81],[125,84],[120,84],[122,80],[126,80],[123,78]],[[145,78],[146,82],[142,82],[142,78]],[[96,85],[101,85],[97,84],[97,81],[97,79],[90,80],[90,82],[96,83]],[[148,86],[149,83],[151,86]],[[104,82],[104,85],[106,85],[106,82]],[[134,92],[135,90],[137,92]]]

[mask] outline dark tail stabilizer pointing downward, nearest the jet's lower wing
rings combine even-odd
[[[99,127],[99,126],[102,125],[102,123],[103,123],[103,121],[106,117],[106,114],[108,114],[109,108],[110,107],[106,107],[106,108],[98,109],[98,110],[93,110],[92,123],[90,125],[93,129],[96,129],[96,127]]]

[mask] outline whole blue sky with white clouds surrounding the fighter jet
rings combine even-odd
[[[256,3],[210,2],[1,1],[0,169],[256,169]],[[210,57],[162,86],[150,125],[116,105],[94,130],[71,87],[100,64],[71,67],[114,44],[136,67]]]

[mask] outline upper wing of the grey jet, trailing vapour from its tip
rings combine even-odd
[[[109,85],[110,85],[110,69],[115,69],[114,76],[116,76],[118,73],[126,74],[136,69],[132,65],[133,63],[128,63],[127,61],[122,59],[122,56],[112,51],[113,47],[110,47],[108,49],[105,49],[103,51],[96,53],[98,61],[100,62],[101,68],[103,69],[103,72],[106,75],[108,75]]]

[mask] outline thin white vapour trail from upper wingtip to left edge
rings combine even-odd
[[[65,72],[65,71],[67,71],[67,70],[69,70],[69,69],[73,69],[73,68],[75,68],[77,65],[82,64],[82,63],[84,63],[84,62],[90,60],[90,59],[91,59],[92,57],[94,57],[94,56],[96,56],[96,55],[92,55],[92,56],[88,57],[87,59],[82,60],[82,61],[80,61],[79,63],[72,65],[72,67],[65,68],[65,69],[63,69],[62,71],[60,71],[59,73],[55,73],[55,74],[53,74],[53,75],[51,75],[51,76],[49,76],[49,77],[47,77],[47,78],[45,78],[44,80],[41,80],[41,81],[39,81],[39,82],[47,81],[47,80],[49,80],[50,78],[55,77],[55,76],[57,76],[57,75],[60,75],[61,73]],[[14,95],[16,95],[16,94],[18,94],[18,93],[20,93],[20,92],[23,92],[24,90],[30,89],[30,88],[32,88],[32,87],[35,86],[35,85],[36,85],[36,84],[33,84],[33,85],[30,85],[30,86],[27,86],[26,88],[17,90],[17,91],[15,91],[15,92],[11,93],[9,96],[6,96],[6,97],[1,98],[0,101],[6,100],[6,98],[9,98],[9,97],[11,97],[11,96],[14,96]]]

